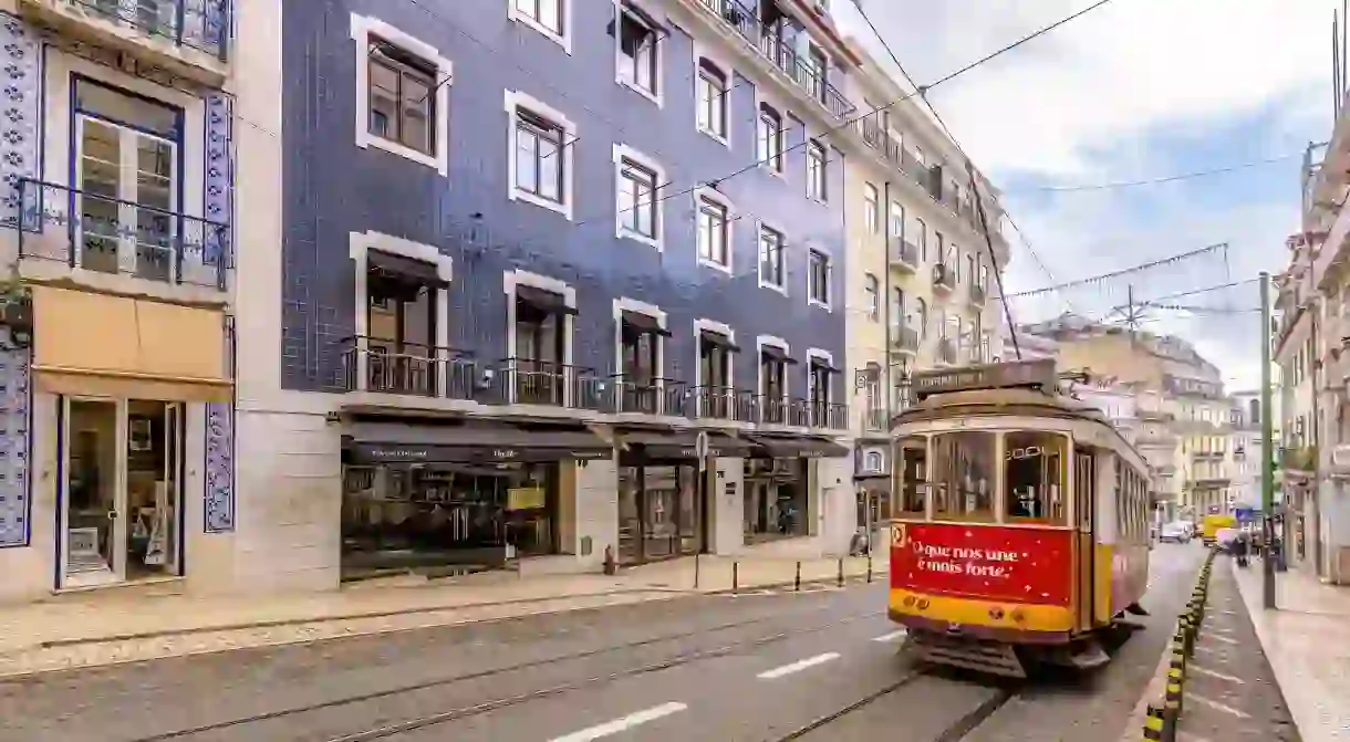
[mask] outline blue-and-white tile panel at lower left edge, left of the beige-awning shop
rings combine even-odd
[[[30,351],[0,328],[0,548],[28,545],[28,363]]]

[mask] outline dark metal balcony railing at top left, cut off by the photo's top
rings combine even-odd
[[[72,11],[209,54],[230,53],[231,0],[58,0]]]

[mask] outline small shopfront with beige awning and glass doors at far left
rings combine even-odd
[[[186,521],[205,487],[188,452],[201,455],[207,406],[232,401],[223,313],[47,286],[32,298],[34,487],[50,487],[35,503],[54,503],[32,533],[50,536],[49,586],[185,576],[186,541],[205,537]]]

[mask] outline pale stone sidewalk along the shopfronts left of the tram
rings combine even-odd
[[[147,595],[135,588],[0,607],[0,677],[338,637],[504,621],[690,594],[865,579],[865,559],[702,556],[618,575],[394,577],[319,594]],[[884,568],[884,563],[878,563]]]

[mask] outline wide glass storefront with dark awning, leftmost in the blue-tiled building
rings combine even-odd
[[[348,424],[343,579],[491,569],[562,553],[564,467],[613,453],[585,428]]]

